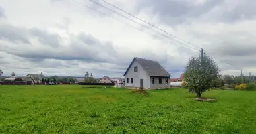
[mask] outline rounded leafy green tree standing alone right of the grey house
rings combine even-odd
[[[218,77],[218,66],[209,56],[201,54],[200,57],[192,57],[186,66],[183,80],[185,87],[196,92],[197,97],[211,88],[212,81]]]

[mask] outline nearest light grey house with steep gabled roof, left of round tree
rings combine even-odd
[[[133,58],[125,74],[126,88],[170,88],[170,74],[156,61]]]

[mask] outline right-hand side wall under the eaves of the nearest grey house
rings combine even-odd
[[[153,78],[154,78],[154,84],[153,84]],[[159,78],[162,79],[162,84],[159,83]],[[150,77],[150,88],[152,89],[170,88],[170,77]]]

